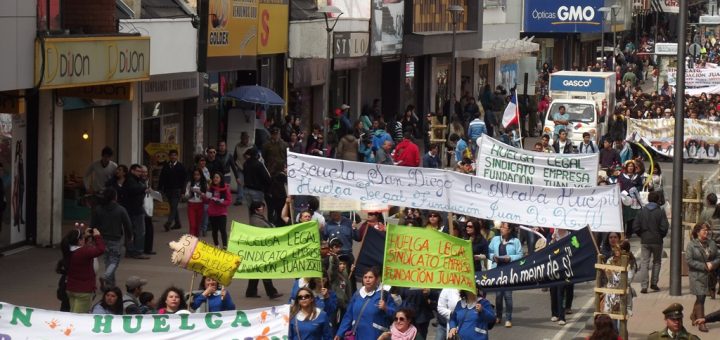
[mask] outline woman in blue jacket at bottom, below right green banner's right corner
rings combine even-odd
[[[460,292],[460,301],[450,313],[448,337],[460,335],[460,339],[488,339],[490,324],[495,320],[495,310],[490,301],[467,291]]]

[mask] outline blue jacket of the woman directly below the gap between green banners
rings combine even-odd
[[[364,289],[364,288],[360,288]],[[359,322],[355,334],[356,339],[377,339],[380,334],[386,332],[390,328],[390,319],[395,316],[395,301],[390,298],[390,293],[383,293],[383,300],[385,301],[386,310],[382,311],[378,309],[377,304],[380,302],[380,291],[373,292],[373,295],[360,296],[360,290],[353,294],[350,303],[348,303],[347,311],[345,316],[340,322],[338,331],[336,333],[340,338],[344,338],[345,332],[352,331],[353,324]],[[360,315],[360,310],[366,300],[370,300],[365,306],[365,310]],[[360,317],[360,321],[358,320]]]

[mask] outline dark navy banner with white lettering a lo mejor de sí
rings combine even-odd
[[[594,281],[597,255],[590,230],[578,230],[518,261],[477,272],[475,278],[483,291]]]

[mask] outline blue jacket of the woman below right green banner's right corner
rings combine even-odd
[[[480,299],[483,309],[475,311],[475,305],[467,306],[465,301],[458,301],[455,310],[450,313],[449,329],[458,328],[461,339],[488,339],[488,324],[495,320],[495,309],[486,299]]]

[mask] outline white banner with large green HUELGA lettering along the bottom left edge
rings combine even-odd
[[[0,339],[287,339],[289,305],[193,314],[76,314],[0,302]]]

